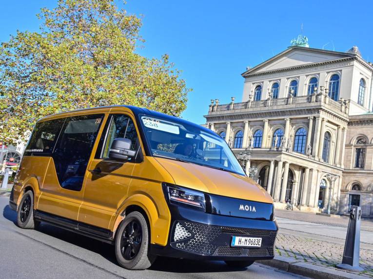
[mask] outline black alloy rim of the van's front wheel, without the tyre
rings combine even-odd
[[[137,220],[133,220],[124,228],[120,242],[120,251],[126,260],[134,259],[141,248],[142,229]]]

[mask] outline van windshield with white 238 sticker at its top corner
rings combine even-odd
[[[153,156],[245,175],[232,150],[217,134],[149,115],[140,115],[140,119]]]

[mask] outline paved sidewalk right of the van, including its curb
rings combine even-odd
[[[303,276],[322,278],[373,278],[373,222],[361,222],[360,266],[362,272],[335,268],[341,263],[349,219],[313,213],[276,210],[279,232],[275,259],[260,261]]]

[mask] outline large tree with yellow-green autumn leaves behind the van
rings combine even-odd
[[[0,135],[25,140],[39,117],[126,104],[179,115],[190,91],[167,55],[136,53],[141,19],[113,0],[59,0],[39,32],[0,47]]]

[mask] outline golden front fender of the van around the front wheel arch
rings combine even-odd
[[[171,175],[154,157],[144,156],[144,161],[134,167],[127,199],[119,207],[111,228],[115,232],[123,220],[122,212],[130,205],[140,206],[150,224],[150,242],[165,246],[171,223],[171,213],[166,203],[162,182],[174,183]]]

